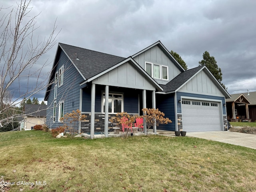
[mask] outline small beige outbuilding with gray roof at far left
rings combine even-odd
[[[25,104],[24,130],[31,130],[35,125],[43,125],[46,122],[47,105]]]

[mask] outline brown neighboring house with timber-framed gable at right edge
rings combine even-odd
[[[230,96],[231,98],[226,100],[228,120],[238,117],[236,120],[256,121],[256,92],[231,94]]]

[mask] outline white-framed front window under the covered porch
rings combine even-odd
[[[103,113],[105,113],[105,93],[103,93],[102,106]],[[120,113],[123,111],[123,95],[122,94],[108,94],[108,112]]]

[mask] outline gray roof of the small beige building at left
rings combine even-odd
[[[25,104],[25,115],[34,117],[45,117],[47,105]]]

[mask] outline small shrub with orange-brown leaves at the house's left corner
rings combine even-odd
[[[74,137],[78,133],[78,123],[84,120],[86,115],[82,115],[80,110],[72,111],[72,113],[67,113],[64,117],[60,118],[60,121],[64,123],[63,127],[66,132],[70,132],[71,136]],[[65,132],[65,133],[66,133]]]

